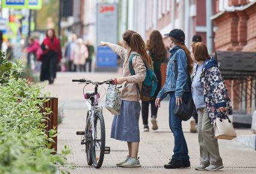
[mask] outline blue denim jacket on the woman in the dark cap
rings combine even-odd
[[[178,69],[178,70],[177,70]],[[183,97],[184,92],[189,92],[189,78],[187,73],[187,56],[178,46],[170,50],[170,58],[166,69],[166,82],[158,93],[157,98],[163,100],[167,92],[175,91],[175,97]]]

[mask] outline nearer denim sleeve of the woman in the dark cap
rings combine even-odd
[[[183,50],[177,51],[178,76],[176,79],[175,97],[183,96],[183,88],[187,83],[187,56]]]

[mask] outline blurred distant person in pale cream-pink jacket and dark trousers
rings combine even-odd
[[[78,38],[76,45],[73,48],[71,59],[75,65],[75,71],[81,72],[85,71],[84,67],[86,64],[86,59],[88,58],[88,50],[84,45],[83,38]]]

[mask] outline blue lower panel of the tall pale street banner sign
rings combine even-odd
[[[116,67],[117,55],[109,47],[97,47],[97,67]]]

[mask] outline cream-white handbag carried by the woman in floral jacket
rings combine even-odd
[[[237,137],[233,124],[229,118],[216,118],[213,124],[216,139],[232,140]]]

